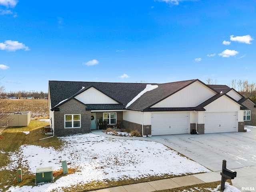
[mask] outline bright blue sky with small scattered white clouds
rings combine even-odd
[[[252,83],[255,32],[255,0],[0,0],[0,83]]]

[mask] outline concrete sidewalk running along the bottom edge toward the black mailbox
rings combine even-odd
[[[165,190],[178,188],[182,186],[190,186],[195,184],[209,183],[220,181],[221,176],[215,172],[194,174],[171,179],[163,179],[138,184],[124,185],[118,187],[93,190],[92,192],[152,192],[157,190]],[[221,182],[220,182],[221,183]]]

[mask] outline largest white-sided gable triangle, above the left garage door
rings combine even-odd
[[[216,92],[196,81],[152,107],[194,107],[215,94]]]

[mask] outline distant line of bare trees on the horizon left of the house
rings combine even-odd
[[[27,97],[34,97],[35,99],[42,99],[42,98],[47,98],[48,93],[44,93],[42,91],[18,91],[18,92],[0,92],[0,97],[1,98],[9,98],[9,97],[17,97],[17,98],[27,98]]]

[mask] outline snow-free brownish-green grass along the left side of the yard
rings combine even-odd
[[[48,122],[31,120],[28,126],[6,128],[1,135],[3,139],[0,140],[0,168],[7,166],[10,163],[10,153],[17,151],[24,144],[60,148],[63,142],[56,137],[39,140],[48,137],[44,134],[44,126],[48,125]],[[29,131],[29,134],[25,134],[23,131]],[[18,168],[21,168],[21,165]],[[18,184],[17,169],[0,170],[0,191],[5,191],[6,188]],[[73,172],[70,169],[69,171]],[[34,185],[35,174],[28,172],[26,168],[22,167],[22,180],[18,184],[19,186]]]

